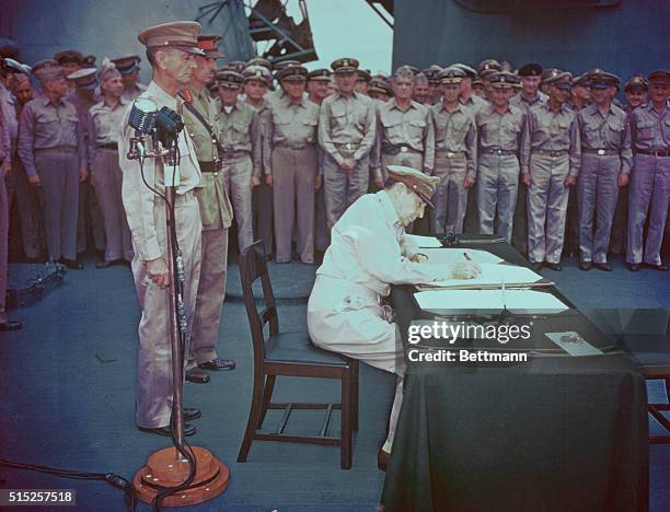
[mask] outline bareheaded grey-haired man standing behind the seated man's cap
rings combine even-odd
[[[393,77],[394,97],[377,106],[372,150],[374,184],[383,188],[389,165],[404,165],[432,175],[435,127],[430,108],[412,100],[413,73],[401,67]]]

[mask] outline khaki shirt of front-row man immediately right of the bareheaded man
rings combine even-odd
[[[474,110],[459,103],[453,112],[448,112],[442,102],[439,102],[432,106],[432,119],[436,151],[465,153],[466,175],[474,179],[477,173],[477,127]]]

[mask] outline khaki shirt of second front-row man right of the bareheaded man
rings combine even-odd
[[[492,149],[518,151],[524,124],[523,110],[513,105],[503,115],[492,104],[486,105],[475,114],[480,154]]]

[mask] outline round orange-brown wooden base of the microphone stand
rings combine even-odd
[[[190,446],[196,459],[196,475],[188,488],[169,496],[162,507],[187,507],[209,501],[228,487],[228,466],[209,450]],[[175,447],[152,453],[147,465],[136,473],[132,485],[145,503],[151,503],[161,487],[176,487],[188,477],[188,463]]]

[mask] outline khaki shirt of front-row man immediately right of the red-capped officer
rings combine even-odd
[[[219,143],[223,152],[244,152],[252,159],[254,176],[261,176],[263,168],[263,141],[261,124],[256,109],[241,100],[232,106],[230,113],[220,101],[216,102]]]

